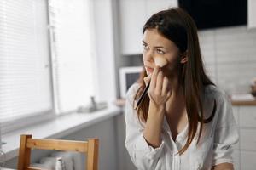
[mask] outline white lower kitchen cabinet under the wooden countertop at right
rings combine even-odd
[[[234,105],[233,114],[240,134],[240,140],[234,146],[234,167],[254,170],[256,167],[256,105]]]

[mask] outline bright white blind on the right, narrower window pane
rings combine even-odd
[[[90,1],[49,0],[49,21],[55,111],[74,111],[95,92]]]

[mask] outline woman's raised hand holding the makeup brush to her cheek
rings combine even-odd
[[[144,79],[144,81],[146,82],[147,79]],[[154,105],[157,108],[165,108],[166,101],[171,96],[171,90],[168,85],[168,78],[164,76],[163,71],[160,71],[159,66],[156,66],[152,73],[148,89],[151,105]]]

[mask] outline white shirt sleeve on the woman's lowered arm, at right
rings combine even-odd
[[[220,94],[218,121],[214,133],[212,166],[220,163],[233,163],[233,145],[238,142],[239,134],[233,116],[230,99],[224,92]]]

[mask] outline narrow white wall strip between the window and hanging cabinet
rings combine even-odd
[[[116,99],[112,0],[93,0],[96,37],[96,97],[101,100]]]

